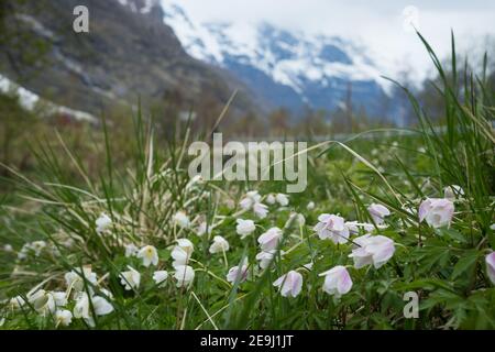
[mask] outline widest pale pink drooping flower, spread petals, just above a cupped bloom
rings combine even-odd
[[[373,264],[375,268],[384,265],[394,255],[394,241],[384,235],[365,234],[354,239],[356,246],[349,254],[354,260],[354,267],[361,268]]]

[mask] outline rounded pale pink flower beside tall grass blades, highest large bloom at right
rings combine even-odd
[[[426,222],[433,228],[450,226],[454,212],[454,205],[444,198],[427,198],[419,206],[419,222]]]

